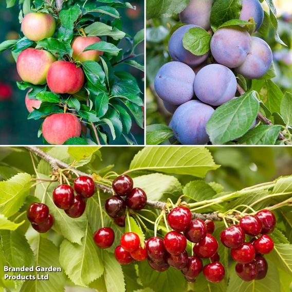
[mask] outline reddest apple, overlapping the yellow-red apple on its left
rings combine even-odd
[[[47,83],[54,93],[75,94],[83,86],[84,74],[74,63],[57,61],[48,70]]]

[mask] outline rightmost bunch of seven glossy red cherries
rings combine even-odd
[[[237,262],[235,271],[244,281],[261,280],[265,278],[268,264],[264,254],[274,247],[270,236],[276,226],[276,218],[269,210],[259,211],[255,215],[241,218],[239,225],[232,225],[220,234],[220,240],[231,249],[231,257]],[[252,236],[246,242],[246,236]]]

